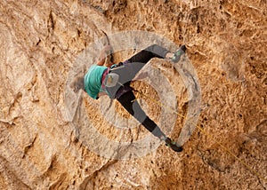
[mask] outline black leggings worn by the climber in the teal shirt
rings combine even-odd
[[[131,63],[142,63],[140,67],[137,69],[132,70],[132,73],[134,72],[134,75],[138,73],[140,69],[150,61],[152,58],[160,58],[164,59],[166,57],[166,53],[170,51],[167,51],[165,48],[158,46],[157,44],[153,44],[150,47],[138,52],[135,54],[132,58],[127,60],[127,64]],[[135,67],[136,68],[136,67]],[[133,76],[134,76],[133,75]],[[134,77],[133,77],[134,78]],[[132,78],[132,79],[133,79]],[[129,85],[130,83],[125,83],[125,85]],[[142,107],[140,107],[138,101],[133,101],[135,98],[133,91],[127,91],[123,95],[121,95],[117,100],[120,102],[120,104],[125,107],[125,109],[134,116],[137,121],[142,123],[142,125],[152,132],[153,135],[155,135],[158,138],[165,137],[165,134],[160,131],[157,124],[154,123],[149,116],[147,116],[144,111],[142,110]]]

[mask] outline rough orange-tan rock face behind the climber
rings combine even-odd
[[[1,189],[267,188],[266,1],[6,0],[0,2],[0,15]],[[82,91],[72,99],[66,93],[72,76],[92,65],[106,43],[92,46],[105,39],[102,31],[110,36],[126,30],[186,44],[201,105],[207,106],[198,125],[215,141],[196,129],[177,154],[150,137],[116,101],[93,100]],[[137,41],[136,50],[117,51],[115,62],[138,51]],[[163,94],[175,96],[171,106],[186,115],[190,92],[179,73],[166,60],[153,59],[150,65],[156,68],[154,78],[166,75],[174,94],[164,88]],[[162,100],[150,83],[133,85]],[[174,119],[168,135],[178,139],[184,118],[161,118],[162,107],[145,97],[141,103],[164,131]],[[103,116],[109,104],[116,115]],[[132,127],[122,130],[120,123]],[[109,146],[91,129],[109,141],[125,142],[125,149]],[[141,139],[152,151],[131,158],[129,150],[147,148],[131,146]]]

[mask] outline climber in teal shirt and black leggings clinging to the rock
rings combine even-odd
[[[74,91],[83,89],[93,99],[99,99],[104,95],[108,95],[110,99],[117,99],[128,113],[142,123],[148,131],[158,139],[164,140],[166,146],[171,147],[176,152],[181,152],[182,146],[177,146],[174,140],[166,137],[166,134],[160,130],[158,125],[144,113],[138,101],[135,101],[134,89],[130,86],[130,83],[152,58],[170,59],[177,63],[186,51],[185,45],[182,45],[177,51],[171,52],[158,44],[153,44],[124,62],[105,67],[103,65],[110,50],[109,45],[103,48],[98,63],[91,66],[84,76],[78,77],[74,82]]]

